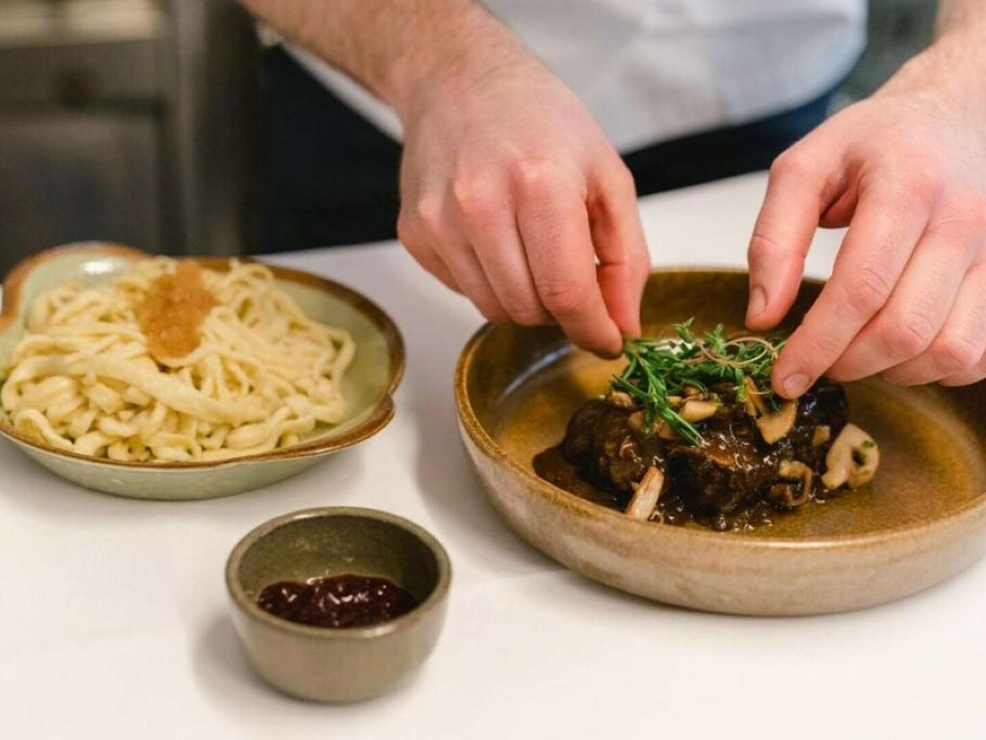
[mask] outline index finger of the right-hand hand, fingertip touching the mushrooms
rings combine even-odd
[[[927,222],[901,202],[887,189],[861,197],[831,279],[774,366],[781,396],[805,393],[889,299]]]

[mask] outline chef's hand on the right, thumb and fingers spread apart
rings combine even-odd
[[[791,308],[815,227],[849,226],[831,280],[776,363],[782,396],[822,374],[901,385],[986,377],[982,39],[942,37],[771,168],[749,246],[751,329]]]

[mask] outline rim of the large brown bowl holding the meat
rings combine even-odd
[[[670,267],[660,267],[652,269],[651,274],[665,274],[669,272],[719,272],[733,274],[748,274],[747,270],[734,266],[716,265],[674,265]],[[823,285],[824,280],[805,277],[803,282],[813,285]],[[574,511],[582,517],[601,517],[603,521],[609,521],[613,526],[627,526],[637,528],[641,533],[648,532],[653,537],[684,538],[696,544],[700,544],[706,549],[723,549],[735,552],[741,550],[761,552],[764,550],[831,550],[843,549],[846,547],[873,547],[884,543],[894,542],[913,536],[916,532],[932,532],[939,529],[948,529],[952,525],[967,516],[973,516],[978,509],[986,509],[986,491],[977,498],[957,507],[950,513],[939,517],[926,517],[924,519],[911,522],[909,524],[897,525],[885,530],[875,530],[865,534],[850,535],[828,535],[824,538],[808,539],[797,537],[737,537],[732,533],[712,532],[697,530],[684,527],[662,527],[656,526],[651,522],[641,522],[630,519],[618,511],[608,509],[599,504],[580,498],[574,493],[569,493],[563,488],[559,488],[548,481],[544,481],[525,467],[515,461],[501,448],[496,441],[489,435],[485,427],[480,423],[475,411],[469,402],[468,386],[466,378],[468,369],[474,359],[475,353],[487,334],[497,329],[497,325],[487,322],[469,337],[469,340],[462,347],[456,363],[455,376],[455,396],[456,411],[461,421],[461,426],[469,439],[490,458],[499,461],[500,464],[507,466],[516,476],[519,476],[528,485],[528,490],[533,490],[548,503]],[[574,350],[574,346],[569,343],[562,350],[568,353]]]

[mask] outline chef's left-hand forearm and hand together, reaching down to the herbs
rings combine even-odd
[[[241,0],[400,115],[397,236],[490,321],[616,356],[650,269],[633,178],[589,111],[472,0]]]

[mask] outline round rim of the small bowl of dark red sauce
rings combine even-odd
[[[291,524],[302,519],[318,519],[337,516],[351,516],[363,519],[372,519],[378,522],[386,522],[408,534],[417,538],[428,551],[435,555],[438,563],[438,578],[435,587],[428,594],[428,597],[418,604],[407,614],[401,615],[387,622],[367,627],[314,627],[312,625],[301,625],[297,622],[275,617],[263,611],[252,599],[246,596],[243,584],[240,582],[240,564],[243,562],[244,555],[251,547],[269,535],[276,529],[286,524]],[[244,535],[236,544],[226,561],[226,589],[236,605],[242,609],[249,617],[259,620],[265,625],[274,629],[293,632],[307,637],[340,637],[360,640],[369,637],[380,637],[398,629],[405,629],[414,623],[424,619],[429,613],[434,612],[446,600],[449,589],[452,585],[452,560],[445,547],[438,541],[433,534],[419,524],[415,524],[410,519],[405,519],[397,514],[391,514],[381,509],[373,509],[366,506],[317,506],[310,509],[299,509],[287,514],[281,514],[273,519],[269,519],[263,524],[257,525]]]

